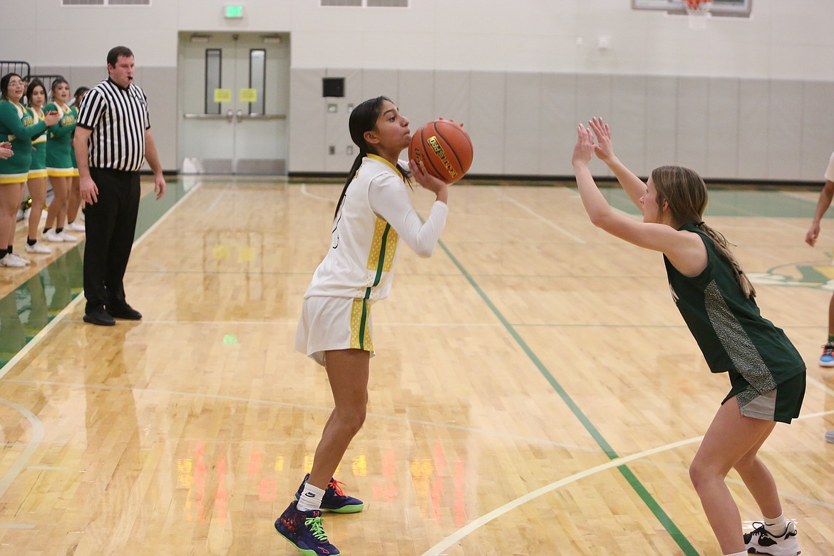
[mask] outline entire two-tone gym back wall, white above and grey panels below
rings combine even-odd
[[[177,168],[176,95],[166,91],[183,31],[290,33],[291,172],[349,167],[344,111],[324,113],[325,75],[346,78],[345,104],[384,93],[414,123],[465,119],[473,173],[569,174],[573,125],[591,115],[636,138],[618,144],[641,170],[686,163],[706,177],[813,181],[834,146],[834,0],[752,0],[751,18],[714,17],[704,29],[631,0],[238,0],[246,17],[226,21],[231,1],[4,0],[0,59],[86,78],[105,74],[113,45],[132,48],[154,125],[168,126],[157,132],[166,169]]]

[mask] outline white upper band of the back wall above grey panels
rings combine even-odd
[[[632,10],[630,0],[410,0],[409,8],[322,8],[319,0],[153,0],[151,7],[3,2],[0,57],[102,62],[117,43],[146,66],[175,66],[178,31],[293,33],[294,68],[399,68],[834,80],[831,0],[753,0],[752,17]],[[38,40],[33,40],[34,37]],[[610,38],[610,48],[597,39]],[[578,40],[581,44],[578,44]]]

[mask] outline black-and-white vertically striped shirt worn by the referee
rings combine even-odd
[[[145,158],[145,130],[151,127],[141,88],[121,88],[110,78],[90,89],[81,102],[77,125],[92,131],[90,168],[138,172]]]

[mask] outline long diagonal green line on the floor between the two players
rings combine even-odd
[[[530,348],[529,345],[521,338],[520,334],[515,330],[515,327],[510,324],[510,322],[505,318],[505,316],[495,307],[495,303],[492,303],[492,300],[484,293],[484,290],[480,288],[477,282],[475,282],[475,278],[472,278],[470,273],[466,272],[466,269],[460,264],[455,255],[452,254],[450,248],[446,247],[446,244],[443,243],[442,240],[438,241],[438,244],[441,248],[445,251],[446,255],[449,256],[452,263],[455,263],[455,266],[460,270],[460,273],[466,278],[466,280],[470,283],[472,288],[475,289],[475,292],[480,295],[480,298],[484,300],[487,307],[490,308],[495,317],[498,318],[501,324],[504,325],[507,332],[510,333],[515,339],[515,342],[519,344],[520,348],[524,350],[527,354],[527,357],[530,358],[536,368],[539,369],[539,372],[547,379],[547,382],[550,383],[550,386],[559,394],[562,401],[565,402],[565,405],[570,408],[570,411],[574,414],[575,418],[582,423],[582,426],[585,430],[590,434],[592,438],[594,438],[595,442],[602,448],[602,451],[605,452],[605,455],[608,456],[609,459],[616,459],[620,456],[614,451],[614,448],[611,448],[611,445],[605,440],[605,437],[602,436],[600,431],[594,426],[593,423],[590,422],[590,419],[587,415],[580,409],[580,407],[574,402],[573,398],[570,398],[570,394],[567,393],[565,388],[559,383],[558,380],[555,379],[553,374],[550,373],[547,367],[545,367],[545,363],[541,362],[541,359],[535,354],[535,352]],[[646,487],[643,486],[643,483],[640,482],[640,479],[636,478],[635,474],[631,472],[631,469],[625,465],[620,465],[617,468],[618,471],[622,474],[625,480],[631,485],[631,488],[640,496],[643,503],[646,504],[646,507],[651,510],[651,513],[654,513],[657,520],[661,523],[663,528],[666,529],[666,532],[670,534],[671,538],[675,540],[677,545],[683,550],[686,556],[697,556],[698,552],[696,551],[695,547],[691,545],[689,540],[686,539],[686,536],[681,532],[681,529],[677,527],[677,525],[671,520],[669,515],[661,508],[661,505],[657,503],[655,498],[651,496]]]

